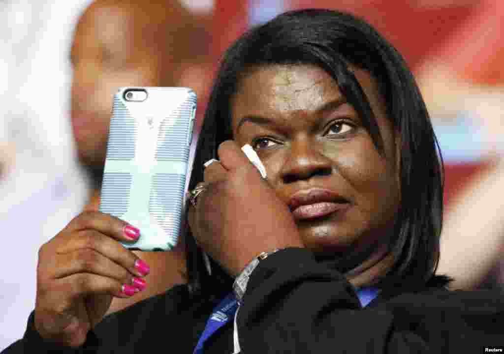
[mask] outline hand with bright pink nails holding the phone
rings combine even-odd
[[[113,297],[145,289],[149,266],[119,242],[138,230],[97,211],[84,211],[39,250],[34,325],[42,338],[80,346]]]

